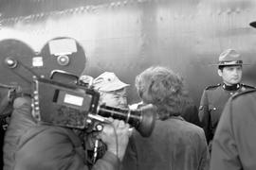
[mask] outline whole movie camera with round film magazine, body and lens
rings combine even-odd
[[[82,46],[74,39],[53,39],[41,53],[33,53],[24,42],[6,40],[0,42],[1,50],[1,73],[9,75],[10,85],[19,85],[32,96],[32,114],[38,121],[82,129],[92,122],[108,123],[105,118],[112,117],[137,128],[144,137],[151,135],[155,107],[130,110],[100,105],[100,93],[80,81],[86,59]]]

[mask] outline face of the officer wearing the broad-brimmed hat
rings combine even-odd
[[[225,66],[223,70],[218,70],[219,76],[222,76],[223,82],[227,85],[240,83],[242,79],[242,66]]]

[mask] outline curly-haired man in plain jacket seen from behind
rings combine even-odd
[[[208,169],[204,130],[180,116],[189,99],[183,79],[168,68],[150,67],[136,77],[136,87],[143,103],[156,106],[158,120],[149,138],[132,134],[123,169]]]

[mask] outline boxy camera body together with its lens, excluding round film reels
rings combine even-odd
[[[58,75],[70,77],[64,73]],[[137,128],[143,137],[151,135],[156,117],[153,105],[137,110],[100,105],[98,91],[81,83],[67,82],[38,77],[34,79],[32,114],[37,121],[52,126],[92,129],[97,125],[95,122],[109,123],[104,118],[112,117]]]

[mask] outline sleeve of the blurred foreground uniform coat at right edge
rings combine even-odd
[[[210,170],[243,169],[234,140],[232,106],[229,99],[212,142]]]

